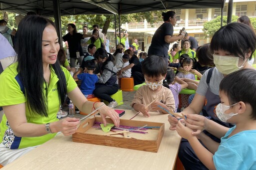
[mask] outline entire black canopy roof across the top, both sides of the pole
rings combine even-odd
[[[59,0],[61,15],[128,14],[180,8],[221,8],[224,0]],[[0,0],[0,10],[53,16],[52,0]]]

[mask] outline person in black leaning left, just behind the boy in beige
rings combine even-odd
[[[123,54],[129,55],[130,64],[124,68],[121,68],[117,73],[117,75],[121,75],[121,73],[124,70],[131,68],[131,76],[133,77],[134,85],[143,83],[145,80],[144,80],[144,75],[142,74],[142,71],[141,71],[141,63],[139,62],[138,57],[135,54],[133,54],[133,51],[131,49],[126,49],[123,52]]]

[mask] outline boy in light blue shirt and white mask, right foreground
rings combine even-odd
[[[237,81],[239,80],[239,81]],[[222,122],[235,124],[228,129],[214,127],[220,144],[203,132],[197,137],[180,121],[177,133],[188,140],[199,160],[210,170],[256,170],[256,71],[242,69],[222,79],[216,115]],[[248,90],[250,89],[250,90]],[[224,161],[223,161],[224,160]]]

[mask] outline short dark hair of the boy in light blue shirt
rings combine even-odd
[[[252,108],[251,117],[256,119],[256,71],[241,69],[225,76],[219,84],[219,92],[224,93],[233,105],[239,101]]]

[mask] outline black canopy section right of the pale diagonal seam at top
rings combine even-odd
[[[221,8],[225,0],[83,0],[116,14],[180,8]]]

